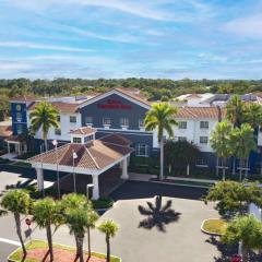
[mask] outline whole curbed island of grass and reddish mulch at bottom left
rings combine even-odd
[[[23,259],[22,249],[19,248],[8,258],[9,262],[43,262],[49,261],[47,242],[41,240],[33,240],[32,243],[26,245],[27,255]],[[46,258],[47,257],[47,258]],[[87,253],[85,252],[85,261],[87,260]],[[46,258],[46,259],[45,259]],[[53,262],[74,262],[75,249],[62,245],[53,245]],[[105,262],[106,255],[102,253],[92,252],[92,257],[88,262]],[[117,257],[111,257],[111,262],[120,262]]]

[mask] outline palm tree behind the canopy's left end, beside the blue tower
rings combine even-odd
[[[51,104],[40,102],[35,109],[29,114],[32,131],[35,133],[41,129],[43,140],[45,141],[45,148],[47,151],[47,134],[51,127],[58,128],[57,110]]]

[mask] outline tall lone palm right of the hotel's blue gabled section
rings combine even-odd
[[[167,103],[154,103],[144,119],[146,130],[157,129],[158,143],[160,144],[160,180],[164,177],[164,132],[166,131],[170,138],[174,136],[172,127],[177,124],[174,119],[176,114],[177,108]]]

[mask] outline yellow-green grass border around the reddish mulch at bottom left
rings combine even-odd
[[[47,242],[43,241],[43,240],[33,240],[32,243],[27,243],[26,245],[26,250],[33,250],[33,249],[47,249]],[[59,248],[61,250],[66,250],[66,251],[71,251],[72,253],[75,252],[75,248],[72,247],[68,247],[68,246],[62,246],[62,245],[53,245],[53,248]],[[21,258],[23,257],[22,254],[22,249],[19,248],[17,250],[15,250],[10,257],[9,257],[9,262],[20,262]],[[87,254],[87,253],[86,253]],[[96,253],[96,252],[92,252],[93,257],[96,258],[100,258],[100,259],[106,259],[105,254],[102,253]],[[23,262],[39,262],[43,261],[43,258],[38,258],[37,260],[35,259],[24,259]],[[55,260],[56,261],[56,260]],[[110,262],[120,262],[121,260],[117,257],[111,257]],[[73,262],[73,261],[72,261]]]

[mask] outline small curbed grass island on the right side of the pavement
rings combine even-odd
[[[225,221],[212,218],[203,222],[201,230],[210,235],[222,236],[225,234],[226,227],[227,223]]]

